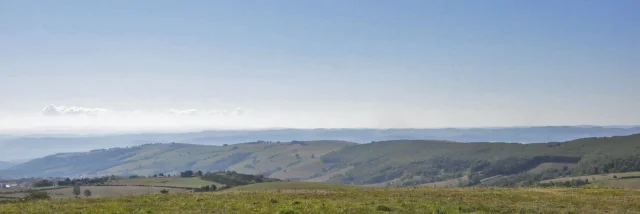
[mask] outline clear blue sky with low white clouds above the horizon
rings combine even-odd
[[[638,10],[0,0],[0,132],[638,125]]]

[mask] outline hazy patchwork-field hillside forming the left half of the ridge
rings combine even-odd
[[[147,144],[129,148],[63,153],[35,159],[7,174],[31,176],[104,176],[178,174],[185,169],[234,170],[272,175],[280,179],[305,179],[322,171],[320,157],[352,143],[342,141],[254,142],[228,146]],[[318,169],[298,166],[313,166]]]

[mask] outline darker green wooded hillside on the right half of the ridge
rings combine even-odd
[[[533,185],[562,176],[639,171],[640,135],[536,144],[385,141],[349,146],[322,161],[334,169],[352,167],[330,179],[339,183],[406,186],[467,177],[476,185],[509,175],[492,185]],[[549,167],[556,165],[567,167]]]

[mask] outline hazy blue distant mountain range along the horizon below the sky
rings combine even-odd
[[[448,140],[457,142],[557,142],[585,137],[640,133],[640,127],[543,126],[442,129],[275,129],[105,136],[3,136],[0,160],[32,159],[61,152],[128,147],[146,143],[222,145],[254,141],[339,140],[369,143],[385,140]]]

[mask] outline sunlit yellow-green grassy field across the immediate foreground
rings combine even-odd
[[[267,189],[12,202],[0,204],[0,210],[3,213],[640,213],[640,192],[622,189]]]

